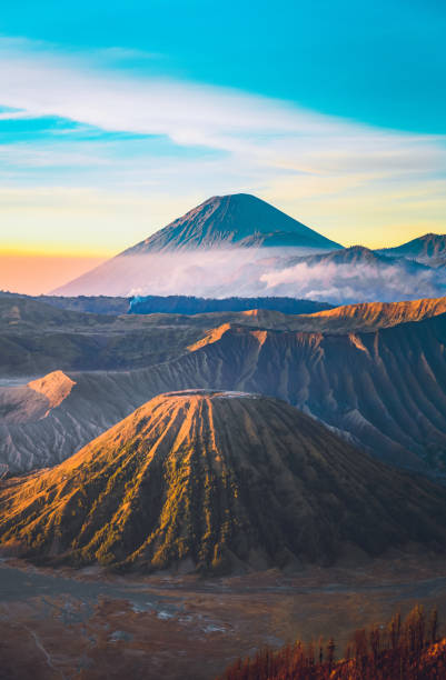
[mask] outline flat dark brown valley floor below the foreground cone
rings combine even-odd
[[[198,580],[52,571],[0,562],[0,678],[210,680],[259,646],[336,636],[437,606],[446,564],[412,557],[361,569]]]

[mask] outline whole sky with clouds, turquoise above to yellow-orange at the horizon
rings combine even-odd
[[[446,232],[444,0],[21,0],[0,16],[0,289],[210,196],[346,246]]]

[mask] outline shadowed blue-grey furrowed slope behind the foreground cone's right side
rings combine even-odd
[[[181,378],[278,397],[388,462],[444,471],[445,338],[446,314],[347,334],[232,327],[181,360]]]

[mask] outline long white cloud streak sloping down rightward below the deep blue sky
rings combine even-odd
[[[181,146],[317,174],[445,167],[440,138],[375,130],[230,89],[87,68],[85,60],[28,42],[0,39],[0,103],[20,116],[166,134]]]

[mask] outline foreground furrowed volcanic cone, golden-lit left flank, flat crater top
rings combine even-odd
[[[446,538],[445,491],[285,402],[161,394],[51,470],[2,482],[0,542],[39,561],[229,573]]]

